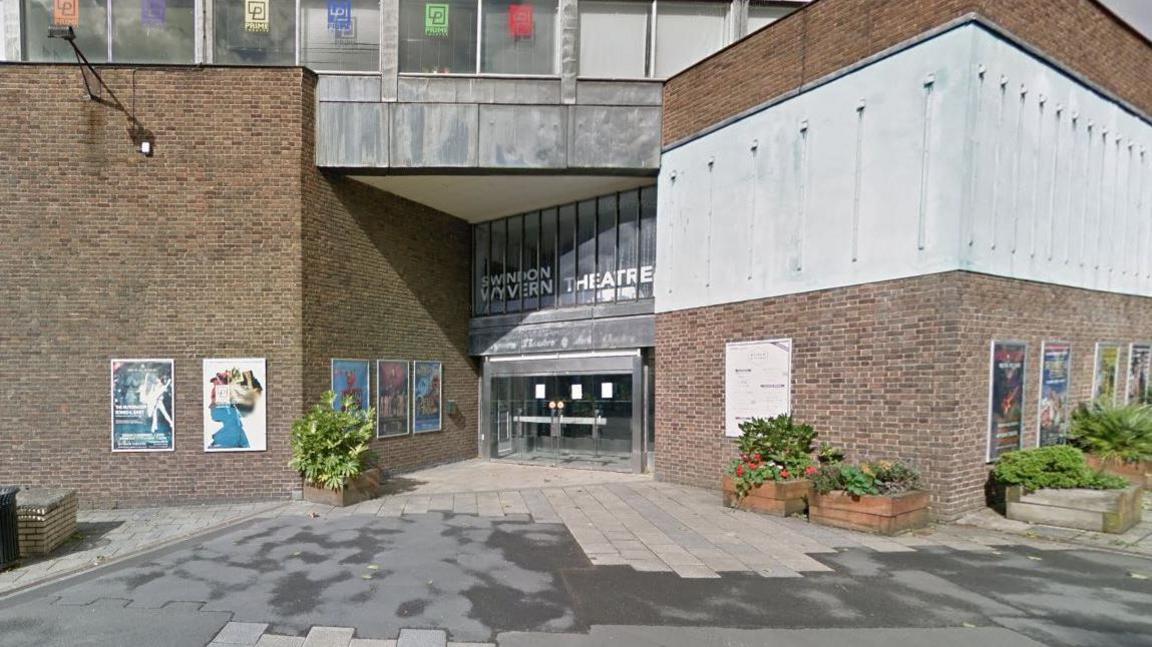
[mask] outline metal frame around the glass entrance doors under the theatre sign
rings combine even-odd
[[[548,355],[525,355],[515,357],[485,357],[484,374],[480,379],[479,452],[484,458],[497,458],[499,439],[492,425],[492,380],[523,375],[588,375],[597,373],[624,373],[632,379],[632,450],[629,464],[631,471],[641,473],[647,464],[645,419],[647,397],[644,375],[644,357],[639,349],[628,351],[571,352]]]

